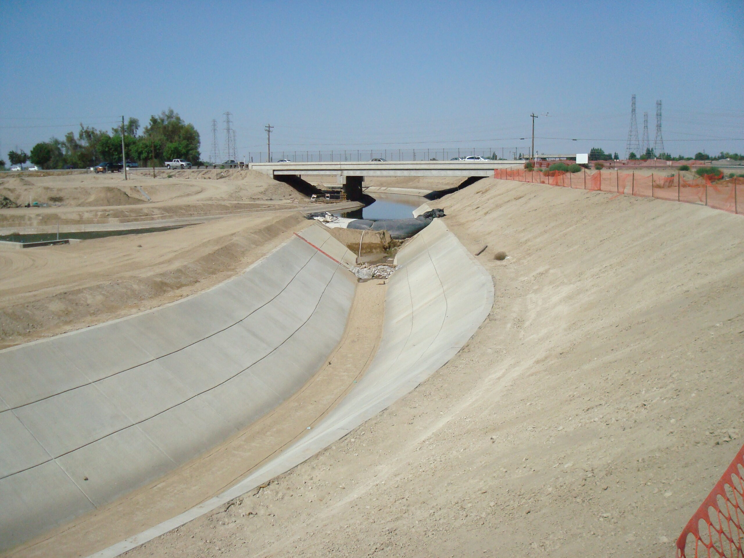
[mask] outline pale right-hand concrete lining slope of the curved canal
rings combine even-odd
[[[225,493],[90,558],[116,557],[292,469],[403,397],[455,356],[491,310],[490,275],[441,219],[434,219],[403,247],[397,263],[401,268],[389,280],[375,359],[318,426]]]

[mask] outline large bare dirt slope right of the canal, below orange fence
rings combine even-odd
[[[493,179],[439,204],[496,288],[464,350],[127,556],[674,556],[742,442],[744,220]]]

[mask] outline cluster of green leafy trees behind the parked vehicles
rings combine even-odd
[[[164,161],[180,158],[199,164],[199,132],[173,109],[150,116],[150,123],[139,134],[137,118],[124,125],[124,149],[129,161],[141,166],[161,166]],[[31,150],[28,159],[43,169],[85,168],[101,162],[121,162],[121,127],[111,133],[80,124],[64,139],[50,138]]]

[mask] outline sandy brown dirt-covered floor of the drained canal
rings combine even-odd
[[[292,397],[205,455],[134,493],[3,556],[79,557],[126,539],[221,493],[304,436],[361,378],[382,333],[387,287],[359,283],[347,328],[329,361]]]

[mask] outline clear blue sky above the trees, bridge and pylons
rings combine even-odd
[[[225,111],[239,155],[267,123],[275,151],[513,148],[530,112],[542,153],[622,155],[634,93],[667,151],[744,153],[743,5],[3,0],[0,153],[173,107],[202,155]]]

